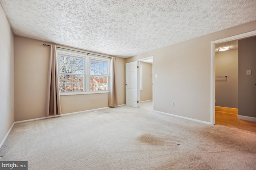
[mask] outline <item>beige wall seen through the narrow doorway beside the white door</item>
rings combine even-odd
[[[152,64],[140,62],[142,65],[142,90],[140,90],[140,102],[152,100],[153,80],[152,80]],[[150,75],[149,75],[150,74]]]

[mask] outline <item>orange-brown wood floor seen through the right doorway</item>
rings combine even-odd
[[[256,122],[237,119],[238,109],[215,106],[215,124],[256,133]]]

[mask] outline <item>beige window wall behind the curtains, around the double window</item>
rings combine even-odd
[[[50,45],[51,43],[20,36],[15,36],[14,42],[15,121],[45,117],[50,47],[44,47],[42,44]],[[116,58],[118,105],[121,105],[125,104],[125,59]],[[108,93],[60,96],[60,102],[62,113],[108,107]]]

